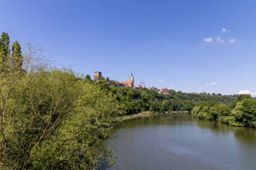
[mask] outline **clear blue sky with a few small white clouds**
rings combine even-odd
[[[77,73],[123,81],[132,71],[147,87],[253,93],[255,9],[254,0],[1,0],[0,32]]]

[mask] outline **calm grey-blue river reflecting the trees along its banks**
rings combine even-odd
[[[108,138],[109,169],[256,169],[256,129],[162,114],[127,120]]]

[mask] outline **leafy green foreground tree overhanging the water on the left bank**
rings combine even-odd
[[[119,103],[110,93],[88,83],[75,103],[75,112],[57,134],[34,149],[34,169],[96,169],[102,163],[113,164],[102,139],[122,113]]]

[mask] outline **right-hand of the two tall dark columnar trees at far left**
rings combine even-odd
[[[23,56],[22,56],[22,48],[20,48],[20,44],[18,41],[13,42],[12,45],[12,53],[11,53],[11,67],[15,71],[20,71],[22,69],[23,64]]]

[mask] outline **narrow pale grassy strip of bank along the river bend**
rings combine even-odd
[[[152,115],[158,115],[158,114],[187,114],[187,113],[189,113],[189,111],[141,112],[139,114],[122,116],[119,118],[119,122],[123,122],[125,120],[130,120],[130,119],[134,119],[134,118],[139,118],[139,117],[148,117],[148,116],[152,116]]]

